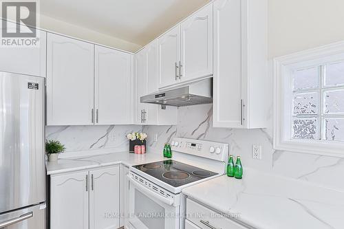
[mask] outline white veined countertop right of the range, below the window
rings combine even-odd
[[[343,180],[338,182],[343,182]],[[183,193],[261,229],[344,228],[344,193],[252,169],[184,188]]]

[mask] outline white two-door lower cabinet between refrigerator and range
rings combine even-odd
[[[120,227],[119,166],[51,175],[51,229]]]

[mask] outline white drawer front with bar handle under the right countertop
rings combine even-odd
[[[214,212],[191,199],[186,199],[186,213],[186,219],[195,223],[195,225],[202,229],[247,229],[244,226],[235,223],[235,221],[222,217],[217,214],[217,212]]]

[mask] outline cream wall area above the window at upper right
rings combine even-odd
[[[344,40],[343,0],[268,0],[268,56]]]

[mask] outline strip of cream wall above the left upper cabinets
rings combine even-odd
[[[82,28],[77,25],[72,25],[66,23],[65,21],[59,21],[45,15],[41,15],[40,27],[52,32],[73,36],[78,39],[99,43],[101,45],[107,45],[109,47],[116,47],[120,50],[126,50],[129,52],[136,52],[136,50],[139,50],[141,47],[141,45],[130,43],[107,34],[101,34],[94,30]]]

